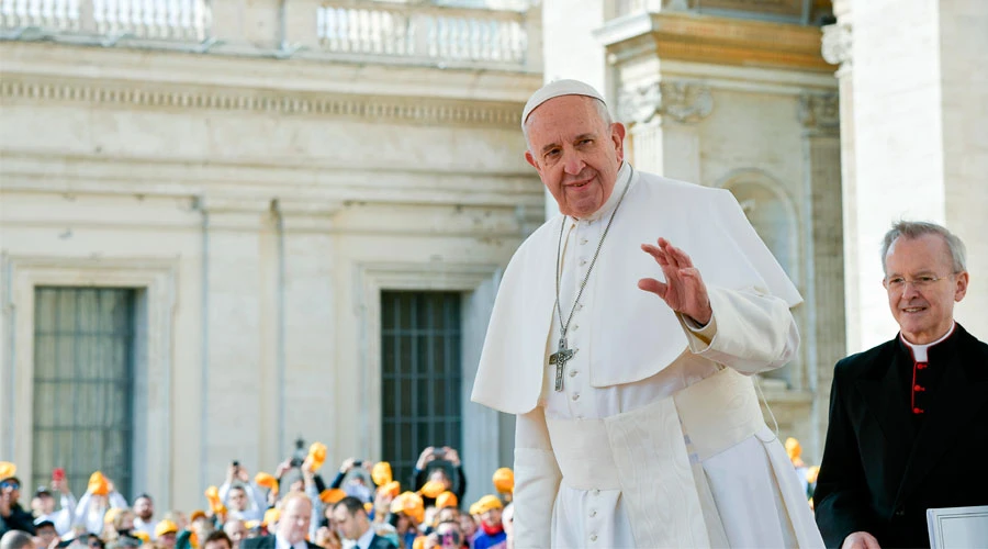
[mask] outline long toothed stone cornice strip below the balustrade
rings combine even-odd
[[[516,128],[521,105],[430,98],[327,94],[292,90],[190,88],[168,83],[147,87],[108,81],[5,79],[0,98],[119,105],[141,109],[220,110],[261,114],[370,119],[424,125]]]

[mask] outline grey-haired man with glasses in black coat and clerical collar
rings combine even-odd
[[[827,547],[930,547],[928,508],[988,504],[988,345],[954,322],[964,244],[899,222],[882,257],[900,330],[834,369],[813,494]]]

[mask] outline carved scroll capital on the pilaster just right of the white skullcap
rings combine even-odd
[[[645,123],[655,116],[669,116],[680,123],[696,123],[714,111],[714,94],[705,85],[692,82],[652,82],[625,89],[618,98],[621,120]]]

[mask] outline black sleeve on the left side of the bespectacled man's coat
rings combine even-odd
[[[850,365],[849,365],[850,366]],[[841,547],[850,534],[872,531],[875,517],[868,505],[867,480],[841,390],[841,363],[830,389],[830,424],[820,474],[813,491],[817,526],[827,547]]]

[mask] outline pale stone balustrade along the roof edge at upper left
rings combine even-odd
[[[538,71],[538,8],[489,5],[498,9],[438,0],[0,0],[0,41]]]

